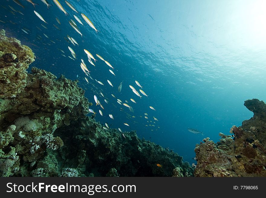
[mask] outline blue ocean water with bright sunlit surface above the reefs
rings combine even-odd
[[[90,108],[96,112],[96,121],[122,131],[136,130],[139,137],[173,149],[190,164],[196,162],[192,159],[196,143],[205,137],[216,142],[219,132],[229,134],[232,125],[240,126],[253,116],[243,105],[246,99],[266,101],[265,1],[69,0],[76,13],[59,0],[67,16],[51,0],[49,9],[40,0],[33,0],[38,4],[36,8],[27,1],[20,2],[25,8],[12,0],[1,2],[0,28],[6,30],[7,36],[31,47],[36,60],[30,68],[36,66],[57,77],[63,74],[71,80],[78,79],[79,86],[86,90],[85,96],[93,103]],[[83,20],[81,13],[99,33]],[[82,37],[70,26],[70,19],[76,22]],[[79,46],[66,42],[67,35]],[[68,58],[72,57],[68,46],[75,51],[76,60]],[[98,60],[95,67],[83,49]],[[112,64],[114,70],[96,54]],[[81,70],[81,58],[92,79]],[[148,97],[140,93],[135,80]],[[129,85],[138,90],[141,99]],[[104,109],[96,106],[94,95]],[[131,98],[137,103],[131,102]],[[123,103],[127,100],[134,113],[118,104],[117,99]],[[188,127],[202,131],[204,136],[190,133]]]

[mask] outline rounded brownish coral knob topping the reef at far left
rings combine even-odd
[[[26,86],[26,69],[34,61],[34,53],[0,30],[0,57],[0,99],[14,98]]]

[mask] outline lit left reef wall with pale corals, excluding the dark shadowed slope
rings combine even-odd
[[[77,120],[89,112],[77,81],[38,68],[28,74],[34,58],[30,48],[0,31],[0,176],[29,176],[47,149],[63,146],[53,133],[65,117]],[[38,168],[32,175],[43,175],[45,167]]]

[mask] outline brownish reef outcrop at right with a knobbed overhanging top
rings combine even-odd
[[[219,142],[205,138],[196,145],[196,177],[266,176],[266,104],[251,99],[244,105],[254,116],[233,126],[232,135],[220,133]]]

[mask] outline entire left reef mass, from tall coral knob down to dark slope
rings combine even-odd
[[[0,176],[193,175],[177,153],[88,117],[77,80],[37,67],[28,74],[34,58],[0,31]]]

